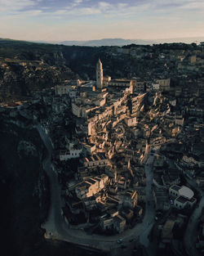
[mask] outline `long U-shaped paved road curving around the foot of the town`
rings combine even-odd
[[[58,182],[57,173],[55,173],[54,168],[51,166],[51,153],[52,145],[51,140],[47,137],[46,132],[38,124],[36,126],[38,132],[47,147],[47,157],[43,160],[43,168],[45,169],[48,177],[50,178],[51,183],[51,207],[50,212],[47,218],[47,222],[42,225],[46,229],[46,238],[47,239],[57,239],[69,241],[77,245],[86,245],[91,248],[101,249],[104,251],[120,251],[119,254],[126,254],[128,249],[131,249],[132,243],[131,239],[138,239],[140,237],[140,242],[148,246],[149,240],[147,236],[151,226],[153,226],[154,221],[154,210],[153,210],[153,194],[152,194],[152,182],[153,182],[153,172],[151,165],[153,163],[153,156],[150,155],[145,165],[145,173],[147,176],[146,182],[146,210],[144,214],[144,221],[137,224],[133,229],[124,231],[122,234],[115,236],[100,236],[100,235],[87,235],[84,231],[73,230],[69,227],[64,221],[64,218],[61,214],[61,193],[60,193],[60,184]],[[122,239],[122,244],[127,246],[127,251],[121,250],[121,245],[118,245],[117,240]],[[118,255],[119,255],[118,254]]]

